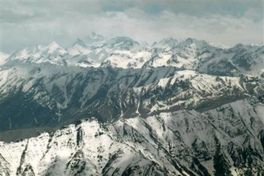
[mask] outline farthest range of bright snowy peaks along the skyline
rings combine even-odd
[[[85,41],[85,42],[84,42]],[[264,46],[236,45],[229,49],[213,47],[203,40],[164,38],[149,46],[127,37],[105,39],[92,33],[77,38],[63,49],[56,42],[13,52],[8,61],[52,63],[80,67],[162,67],[196,70],[209,74],[262,74]]]

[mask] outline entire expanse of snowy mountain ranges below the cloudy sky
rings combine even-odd
[[[263,46],[91,33],[1,56],[0,175],[264,174]]]

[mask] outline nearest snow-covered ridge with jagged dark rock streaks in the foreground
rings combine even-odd
[[[0,143],[0,173],[263,175],[263,109],[263,103],[247,99],[204,113],[159,113],[109,125],[81,121],[18,143]]]

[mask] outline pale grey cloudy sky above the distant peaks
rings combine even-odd
[[[263,43],[263,0],[1,0],[1,51],[56,41],[68,47],[95,31],[152,43],[197,38],[226,46]]]

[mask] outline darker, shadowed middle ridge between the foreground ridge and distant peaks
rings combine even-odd
[[[262,77],[217,77],[176,67],[122,70],[23,63],[6,65],[0,75],[1,131],[93,116],[111,122],[176,109],[204,111],[264,94]]]

